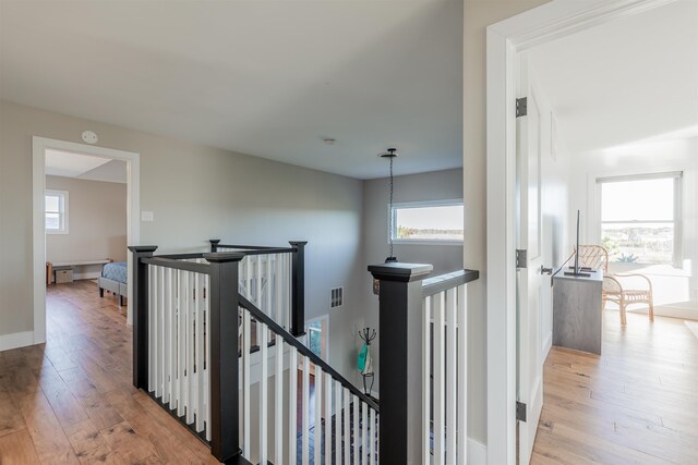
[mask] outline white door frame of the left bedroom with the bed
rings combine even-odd
[[[33,231],[33,299],[34,299],[34,344],[46,342],[46,224],[44,220],[44,192],[46,191],[46,149],[53,148],[95,157],[127,162],[127,244],[137,245],[141,241],[141,161],[140,154],[98,147],[87,144],[32,137],[32,231]],[[128,255],[128,282],[132,283],[131,254]],[[127,321],[132,318],[132,290],[129,285]]]

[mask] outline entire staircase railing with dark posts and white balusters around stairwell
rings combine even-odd
[[[408,270],[408,281],[402,264],[372,267],[381,327],[394,329],[381,340],[378,407],[297,339],[304,316],[293,311],[303,303],[293,282],[302,283],[304,244],[289,252],[212,241],[208,254],[161,256],[155,246],[130,247],[133,384],[222,463],[373,465],[383,455],[386,464],[464,464],[466,441],[456,438],[466,419],[465,283],[477,272],[422,283],[430,266]],[[298,255],[275,256],[287,253]],[[456,347],[462,352],[444,365],[444,351]]]

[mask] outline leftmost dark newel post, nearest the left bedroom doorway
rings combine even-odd
[[[133,254],[133,386],[148,389],[148,266],[141,258],[152,257],[156,245],[130,246]]]

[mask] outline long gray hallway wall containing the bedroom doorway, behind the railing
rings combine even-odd
[[[224,242],[286,245],[309,241],[306,316],[329,311],[329,289],[361,295],[362,182],[160,137],[59,113],[0,102],[0,336],[33,330],[32,136],[81,142],[141,154],[141,243],[158,252],[202,250]],[[351,370],[356,348],[347,329],[360,321],[360,299],[330,315],[330,363]]]

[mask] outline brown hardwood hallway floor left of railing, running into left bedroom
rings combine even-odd
[[[76,281],[46,299],[47,343],[0,352],[0,464],[217,463],[131,386],[117,297]]]

